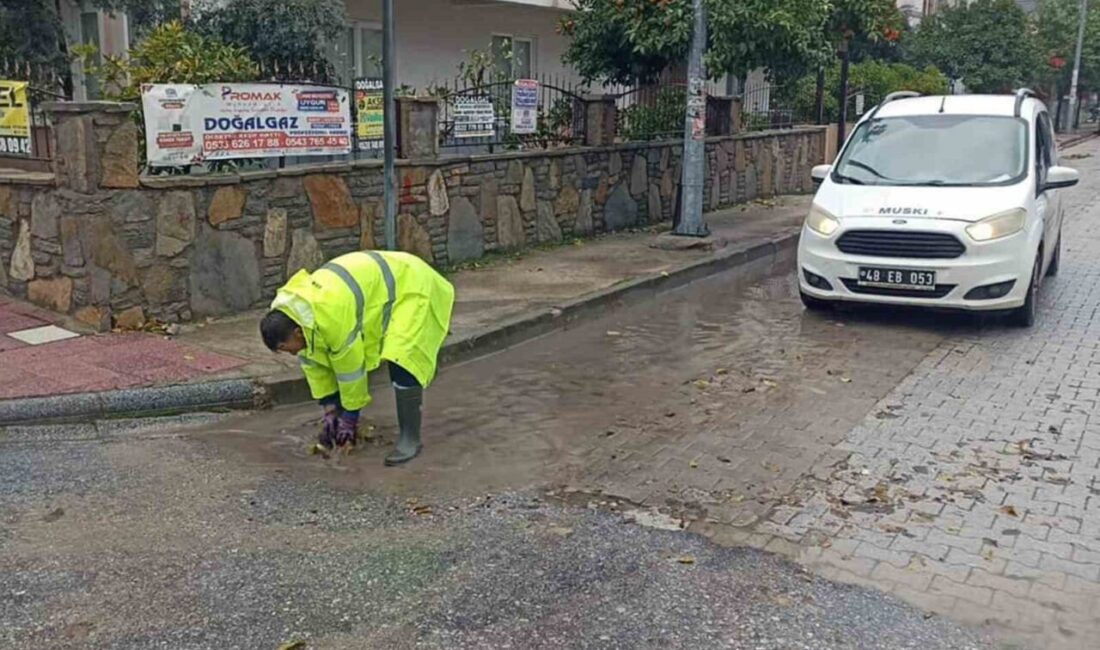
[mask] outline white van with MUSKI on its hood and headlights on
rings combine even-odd
[[[1035,321],[1058,272],[1062,200],[1046,107],[1013,97],[894,92],[859,121],[821,181],[799,242],[807,308],[836,301],[1011,310]]]

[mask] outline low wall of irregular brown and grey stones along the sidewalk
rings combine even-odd
[[[85,121],[85,163],[0,176],[0,290],[99,328],[187,321],[262,307],[298,268],[383,245],[376,162],[128,187],[127,162],[105,147],[123,152],[134,134]],[[711,139],[707,207],[810,191],[824,144],[821,129]],[[448,266],[668,220],[681,153],[669,142],[399,163],[398,245]]]

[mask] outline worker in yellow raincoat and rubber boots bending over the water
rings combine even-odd
[[[454,288],[415,255],[349,253],[278,290],[260,323],[272,351],[297,355],[309,390],[324,409],[321,445],[354,444],[359,411],[371,403],[367,373],[383,361],[397,396],[400,436],[386,465],[420,453],[424,389],[436,376]]]

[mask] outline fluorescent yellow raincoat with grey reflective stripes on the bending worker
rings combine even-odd
[[[306,338],[298,361],[314,398],[337,392],[350,410],[371,403],[366,374],[392,361],[427,387],[451,322],[454,287],[416,255],[349,253],[299,271],[272,309]]]

